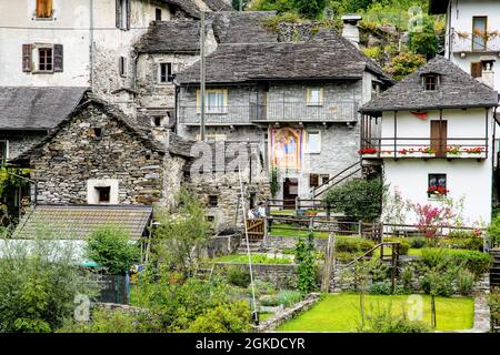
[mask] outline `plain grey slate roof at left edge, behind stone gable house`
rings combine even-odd
[[[87,91],[88,88],[0,87],[0,130],[53,129]]]

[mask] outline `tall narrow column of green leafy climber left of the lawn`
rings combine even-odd
[[[296,263],[298,264],[299,281],[297,288],[307,294],[317,288],[317,265],[314,257],[314,237],[312,233],[308,239],[299,237],[296,245]]]

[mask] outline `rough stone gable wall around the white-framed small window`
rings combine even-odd
[[[96,135],[101,129],[101,136]],[[31,158],[40,203],[88,201],[88,180],[118,180],[119,204],[167,205],[179,190],[182,161],[158,152],[91,103]]]

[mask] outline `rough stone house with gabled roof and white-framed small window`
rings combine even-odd
[[[12,163],[29,166],[37,204],[143,204],[170,207],[189,145],[153,138],[118,108],[90,99]]]

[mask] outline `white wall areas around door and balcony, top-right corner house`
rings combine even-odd
[[[447,32],[448,34],[452,29],[459,32],[472,32],[472,17],[487,16],[488,17],[488,31],[500,30],[500,1],[498,0],[450,0],[450,7],[448,10],[447,19]],[[447,37],[449,38],[449,37]],[[496,43],[500,44],[500,38],[496,39]],[[447,41],[447,58],[453,61],[457,65],[470,73],[470,63],[479,61],[479,58],[484,54],[480,53],[467,53],[464,58],[460,57],[460,53],[449,53],[449,41]],[[497,55],[496,53],[492,53]],[[500,57],[497,55],[497,62],[493,67],[494,70],[494,88],[500,90]]]

